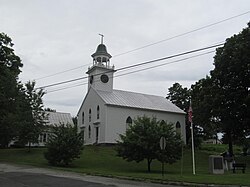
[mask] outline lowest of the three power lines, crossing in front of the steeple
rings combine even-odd
[[[197,58],[197,57],[200,57],[200,56],[203,56],[203,55],[207,55],[207,54],[210,54],[210,53],[213,53],[213,52],[215,52],[215,50],[208,51],[208,52],[205,52],[205,53],[201,53],[201,54],[198,54],[198,55],[193,55],[193,56],[186,57],[186,58],[182,58],[182,59],[179,59],[179,60],[175,60],[175,61],[171,61],[171,62],[167,62],[167,63],[162,63],[162,64],[154,65],[154,66],[151,66],[151,67],[147,67],[147,68],[143,68],[143,69],[123,73],[123,74],[120,74],[120,75],[115,75],[115,76],[113,76],[111,78],[121,77],[121,76],[129,75],[129,74],[133,74],[133,73],[138,73],[138,72],[141,72],[141,71],[146,71],[146,70],[149,70],[149,69],[154,69],[154,68],[157,68],[157,67],[166,66],[166,65],[169,65],[169,64],[174,64],[174,63],[177,63],[177,62],[182,62],[182,61],[189,60],[189,59],[192,59],[192,58]],[[95,80],[94,82],[100,82],[100,80]],[[74,87],[78,87],[78,86],[82,86],[82,85],[87,85],[87,84],[88,84],[87,82],[80,83],[80,84],[76,84],[76,85],[72,85],[72,86],[68,86],[68,87],[48,91],[46,93],[52,93],[52,92],[61,91],[61,90],[69,89],[69,88],[74,88]]]

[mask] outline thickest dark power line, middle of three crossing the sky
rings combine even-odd
[[[187,51],[187,52],[183,52],[183,53],[178,53],[178,54],[175,54],[175,55],[171,55],[171,56],[167,56],[167,57],[163,57],[163,58],[158,58],[158,59],[155,59],[155,60],[141,62],[141,63],[137,63],[137,64],[130,65],[130,66],[125,66],[125,67],[122,67],[122,68],[118,68],[116,71],[130,69],[130,68],[134,68],[134,67],[138,67],[138,66],[143,66],[143,65],[146,65],[146,64],[151,64],[151,63],[162,61],[162,60],[167,60],[167,59],[171,59],[171,58],[175,58],[175,57],[179,57],[179,56],[183,56],[183,55],[187,55],[187,54],[191,54],[191,53],[195,53],[195,52],[199,52],[199,51],[204,51],[204,50],[207,50],[207,49],[211,49],[211,48],[222,46],[223,44],[224,43],[220,43],[220,44],[217,44],[217,45],[212,45],[212,46],[208,46],[208,47],[194,49],[194,50],[191,50],[191,51]],[[109,73],[111,71],[113,71],[113,70],[108,70],[105,73]],[[101,75],[101,74],[102,73],[95,74],[94,76],[98,76],[98,75]],[[58,82],[58,83],[49,84],[49,85],[46,85],[46,86],[41,86],[41,87],[38,87],[37,89],[44,89],[44,88],[48,88],[48,87],[52,87],[52,86],[66,84],[66,83],[70,83],[70,82],[74,82],[74,81],[79,81],[79,80],[82,80],[82,79],[87,79],[87,78],[88,78],[88,76],[79,77],[79,78],[76,78],[76,79],[71,79],[71,80],[67,80],[67,81],[62,81],[62,82]]]

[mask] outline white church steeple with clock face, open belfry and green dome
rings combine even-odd
[[[112,56],[107,52],[107,48],[103,44],[103,35],[101,37],[101,44],[97,46],[96,52],[91,55],[93,66],[89,67],[87,71],[89,75],[88,88],[92,87],[96,90],[112,92],[115,70],[114,66],[110,66]]]

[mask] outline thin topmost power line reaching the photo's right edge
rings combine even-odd
[[[244,12],[244,13],[241,13],[241,14],[238,14],[238,15],[235,15],[235,16],[232,16],[232,17],[229,17],[229,18],[227,18],[227,19],[223,19],[223,20],[217,21],[217,22],[215,22],[215,23],[211,23],[211,24],[205,25],[205,26],[203,26],[203,27],[199,27],[199,28],[194,29],[194,30],[191,30],[191,31],[187,31],[187,32],[182,33],[182,34],[178,34],[178,35],[175,35],[175,36],[172,36],[172,37],[169,37],[169,38],[166,38],[166,39],[163,39],[163,40],[154,42],[154,43],[150,43],[150,44],[147,44],[147,45],[144,45],[144,46],[141,46],[141,47],[138,47],[138,48],[135,48],[135,49],[132,49],[132,50],[129,50],[129,51],[126,51],[126,52],[117,54],[117,55],[114,55],[113,58],[119,57],[119,56],[122,56],[122,55],[125,55],[125,54],[128,54],[128,53],[132,53],[132,52],[134,52],[134,51],[138,51],[138,50],[141,50],[141,49],[144,49],[144,48],[153,46],[153,45],[157,45],[157,44],[159,44],[159,43],[163,43],[163,42],[166,42],[166,41],[169,41],[169,40],[172,40],[172,39],[181,37],[181,36],[185,36],[185,35],[188,35],[188,34],[190,34],[190,33],[197,32],[197,31],[200,31],[200,30],[202,30],[202,29],[205,29],[205,28],[208,28],[208,27],[212,27],[212,26],[214,26],[214,25],[218,25],[218,24],[220,24],[220,23],[223,23],[223,22],[226,22],[226,21],[235,19],[235,18],[237,18],[237,17],[241,17],[241,16],[246,15],[246,14],[249,14],[249,13],[250,13],[250,11],[247,11],[247,12]],[[55,75],[59,75],[59,74],[62,74],[62,73],[66,73],[66,72],[69,72],[69,71],[73,71],[73,70],[75,70],[75,69],[79,69],[79,68],[82,68],[82,67],[85,67],[85,66],[88,66],[88,65],[91,65],[91,63],[86,64],[86,65],[82,65],[82,66],[78,66],[78,67],[75,67],[75,68],[72,68],[72,69],[68,69],[68,70],[65,70],[65,71],[57,72],[57,73],[54,73],[54,74],[50,74],[50,75],[47,75],[47,76],[44,76],[44,77],[40,77],[40,78],[37,78],[37,79],[35,79],[35,80],[40,80],[40,79],[44,79],[44,78],[48,78],[48,77],[53,77],[53,76],[55,76]]]

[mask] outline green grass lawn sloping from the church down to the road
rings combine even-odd
[[[196,157],[196,175],[192,174],[191,151],[184,151],[183,169],[181,173],[181,161],[175,164],[165,164],[165,175],[161,175],[161,163],[154,160],[152,162],[152,172],[147,172],[146,162],[135,163],[126,162],[116,156],[113,147],[86,146],[82,152],[81,158],[75,160],[71,167],[50,167],[43,157],[44,148],[33,148],[31,152],[27,149],[2,149],[0,150],[0,162],[14,164],[32,165],[38,167],[47,167],[59,170],[72,171],[77,173],[86,173],[91,175],[124,177],[139,180],[151,180],[158,182],[189,182],[202,184],[224,184],[224,185],[250,185],[250,171],[247,168],[246,173],[237,171],[225,172],[224,175],[209,174],[208,156],[219,154],[226,150],[224,145],[206,145],[201,150],[197,150]],[[240,152],[237,147],[235,152]],[[250,157],[236,157],[236,160],[247,163],[250,166]]]

